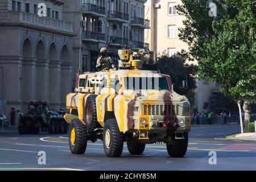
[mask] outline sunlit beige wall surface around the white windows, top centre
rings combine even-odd
[[[157,53],[168,51],[168,48],[175,48],[176,52],[185,49],[188,45],[179,40],[178,28],[183,27],[183,16],[168,15],[168,3],[180,4],[180,0],[148,0],[145,3],[145,17],[151,21],[151,29],[145,30],[145,42],[150,43],[150,49]],[[155,8],[157,4],[159,7]],[[175,25],[175,38],[168,38],[168,25]]]

